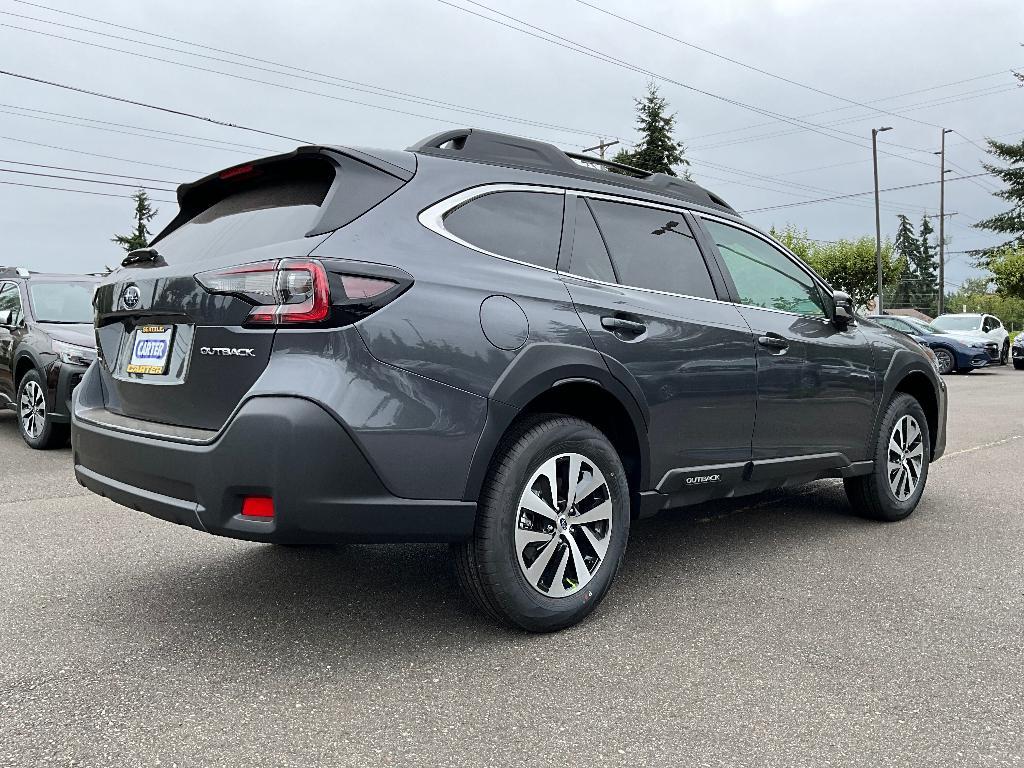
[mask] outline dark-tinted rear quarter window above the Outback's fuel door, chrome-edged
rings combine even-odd
[[[563,195],[493,193],[444,217],[444,228],[488,253],[555,268]]]

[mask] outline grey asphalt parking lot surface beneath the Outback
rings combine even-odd
[[[0,415],[0,765],[1020,765],[1024,373],[946,381],[909,520],[836,481],[666,513],[551,636],[473,613],[443,547],[214,539]]]

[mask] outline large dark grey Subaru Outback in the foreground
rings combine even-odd
[[[304,146],[178,189],[95,297],[79,480],[258,542],[451,542],[534,631],[587,615],[631,522],[843,478],[916,507],[930,351],[721,198],[475,130]]]

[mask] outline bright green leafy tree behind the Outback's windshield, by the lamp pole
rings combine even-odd
[[[874,238],[865,234],[856,240],[819,243],[793,226],[772,236],[806,261],[818,274],[840,291],[850,294],[856,306],[867,306],[878,294],[878,266]],[[882,281],[892,287],[906,269],[906,260],[893,252],[892,243],[882,244]]]

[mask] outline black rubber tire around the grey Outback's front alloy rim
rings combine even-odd
[[[896,424],[910,417],[921,429],[922,465],[916,485],[906,499],[899,499],[889,482],[889,443],[893,437]],[[931,434],[928,419],[921,403],[908,394],[897,394],[886,409],[885,416],[876,438],[874,470],[869,475],[848,477],[844,480],[846,494],[850,504],[857,514],[872,520],[895,522],[910,515],[921,501],[928,482],[928,469],[931,464]]]

